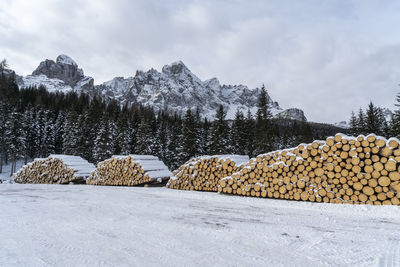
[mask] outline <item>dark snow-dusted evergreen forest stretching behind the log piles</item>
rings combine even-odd
[[[341,130],[273,119],[264,89],[255,118],[237,111],[235,120],[228,121],[225,115],[220,106],[211,122],[195,109],[181,116],[136,104],[121,107],[116,101],[105,103],[74,92],[20,89],[13,73],[1,72],[0,172],[4,163],[13,163],[15,171],[17,160],[27,162],[50,153],[79,155],[93,163],[117,154],[151,154],[173,170],[196,155],[255,156]]]

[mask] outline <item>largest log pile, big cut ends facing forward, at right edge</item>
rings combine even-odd
[[[338,134],[259,155],[218,191],[312,202],[400,205],[399,140]]]

